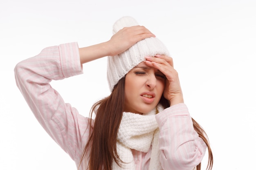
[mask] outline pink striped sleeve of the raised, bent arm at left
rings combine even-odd
[[[88,118],[79,115],[49,82],[79,75],[82,72],[77,43],[43,49],[15,67],[15,79],[38,122],[72,159],[88,131]],[[26,121],[26,120],[22,120]]]

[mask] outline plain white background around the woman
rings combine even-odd
[[[209,136],[213,170],[254,169],[255,0],[1,0],[0,170],[76,169],[29,110],[13,68],[47,46],[107,41],[125,15],[168,47],[185,103]],[[109,95],[106,58],[52,86],[88,116],[92,104]]]

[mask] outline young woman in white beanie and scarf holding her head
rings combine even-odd
[[[80,170],[200,170],[209,141],[183,101],[168,50],[130,17],[108,42],[43,49],[17,64],[16,83],[39,123]],[[82,64],[108,56],[106,97],[79,115],[50,85],[82,73]],[[92,113],[96,114],[92,119]]]

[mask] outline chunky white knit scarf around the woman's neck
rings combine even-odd
[[[124,162],[121,167],[113,160],[112,170],[135,170],[135,163],[132,150],[148,152],[152,146],[149,170],[162,170],[159,161],[159,128],[155,119],[155,114],[164,108],[160,105],[148,114],[139,115],[124,112],[117,133],[117,153]]]

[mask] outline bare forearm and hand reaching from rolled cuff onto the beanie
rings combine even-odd
[[[84,64],[105,56],[114,56],[129,49],[136,42],[155,37],[144,26],[124,27],[107,42],[79,48],[80,62]]]

